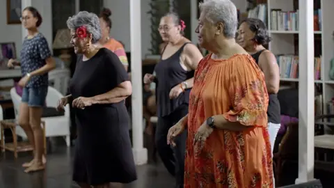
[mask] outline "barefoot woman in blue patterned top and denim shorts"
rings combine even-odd
[[[34,148],[33,160],[23,164],[25,172],[45,169],[43,156],[42,127],[40,119],[42,107],[45,105],[48,86],[48,72],[56,67],[45,37],[38,32],[42,17],[38,10],[29,6],[22,12],[22,24],[28,31],[24,38],[20,62],[14,59],[8,61],[8,67],[20,65],[22,79],[19,86],[23,87],[22,102],[19,106],[19,125],[23,128]]]

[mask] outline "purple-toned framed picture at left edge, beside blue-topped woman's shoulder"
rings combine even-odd
[[[0,43],[0,70],[7,69],[10,58],[16,58],[15,43]]]

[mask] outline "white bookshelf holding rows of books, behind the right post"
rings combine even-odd
[[[327,113],[327,102],[331,101],[331,99],[334,97],[334,80],[331,80],[329,78],[329,70],[331,70],[331,59],[334,58],[334,40],[333,40],[333,31],[334,31],[334,1],[328,1],[328,0],[314,0],[314,1],[320,1],[320,9],[321,9],[321,15],[320,15],[320,25],[321,25],[321,31],[314,31],[315,38],[321,37],[321,64],[320,64],[320,79],[315,79],[316,84],[321,84],[322,86],[322,97],[321,101],[323,104],[323,113]],[[289,12],[289,11],[296,11],[294,10],[294,1],[293,0],[267,0],[267,26],[269,29],[269,35],[271,37],[271,42],[269,43],[269,50],[273,52],[273,54],[283,54],[283,55],[294,55],[295,53],[295,46],[294,46],[294,36],[295,34],[299,35],[298,28],[296,29],[289,29],[290,31],[285,31],[283,29],[277,29],[278,26],[271,26],[275,22],[274,19],[277,19],[274,15],[271,14],[271,10],[277,10],[280,9],[283,12]],[[298,22],[298,21],[297,21]],[[313,22],[313,20],[310,20],[310,22]],[[290,24],[291,26],[291,24]],[[292,26],[293,27],[293,26]],[[299,35],[299,45],[303,44],[303,41],[307,40],[305,38],[301,38]],[[305,42],[306,45],[306,42]],[[299,54],[301,56],[303,54]],[[316,54],[315,54],[316,55]],[[301,64],[303,62],[299,62]],[[280,67],[281,68],[281,67]],[[291,82],[291,83],[297,83],[300,80],[298,77],[292,78],[292,77],[282,77],[281,75],[281,82]],[[334,108],[332,113],[334,113]],[[333,121],[333,120],[332,120]],[[334,125],[334,122],[321,122],[324,125]],[[326,130],[325,130],[326,132]]]

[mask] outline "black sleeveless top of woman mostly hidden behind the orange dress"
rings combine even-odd
[[[264,52],[266,49],[262,49],[259,52],[256,52],[252,55],[252,57],[255,59],[255,62],[257,65],[259,64],[259,57],[262,52]],[[269,105],[268,105],[268,122],[269,123],[280,123],[280,102],[278,101],[277,94],[269,93]]]

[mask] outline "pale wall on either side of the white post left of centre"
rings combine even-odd
[[[1,0],[3,1],[3,0]],[[120,40],[125,45],[125,50],[130,51],[130,1],[129,0],[104,0],[104,7],[111,10],[111,21],[113,27],[111,28],[111,36],[116,40]],[[145,58],[145,54],[150,54],[151,43],[151,29],[150,29],[150,15],[148,5],[150,0],[141,0],[141,42],[142,42],[142,57]]]

